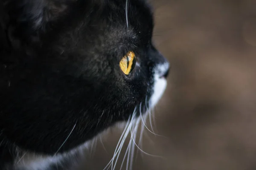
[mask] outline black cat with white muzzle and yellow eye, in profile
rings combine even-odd
[[[1,170],[74,169],[70,155],[162,96],[169,62],[145,0],[0,2]]]

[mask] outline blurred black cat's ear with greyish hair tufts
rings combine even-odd
[[[49,22],[63,14],[70,1],[75,0],[3,0],[9,38],[28,41],[47,31]]]

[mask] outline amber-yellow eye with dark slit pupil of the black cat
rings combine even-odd
[[[119,63],[121,70],[124,74],[129,75],[134,70],[136,64],[136,57],[134,52],[129,51],[125,57],[123,57]]]

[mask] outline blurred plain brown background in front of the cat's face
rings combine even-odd
[[[172,65],[154,118],[166,138],[145,129],[142,149],[162,157],[139,151],[133,170],[256,170],[256,0],[151,3],[155,44]],[[117,131],[95,143],[86,170],[108,164]]]

